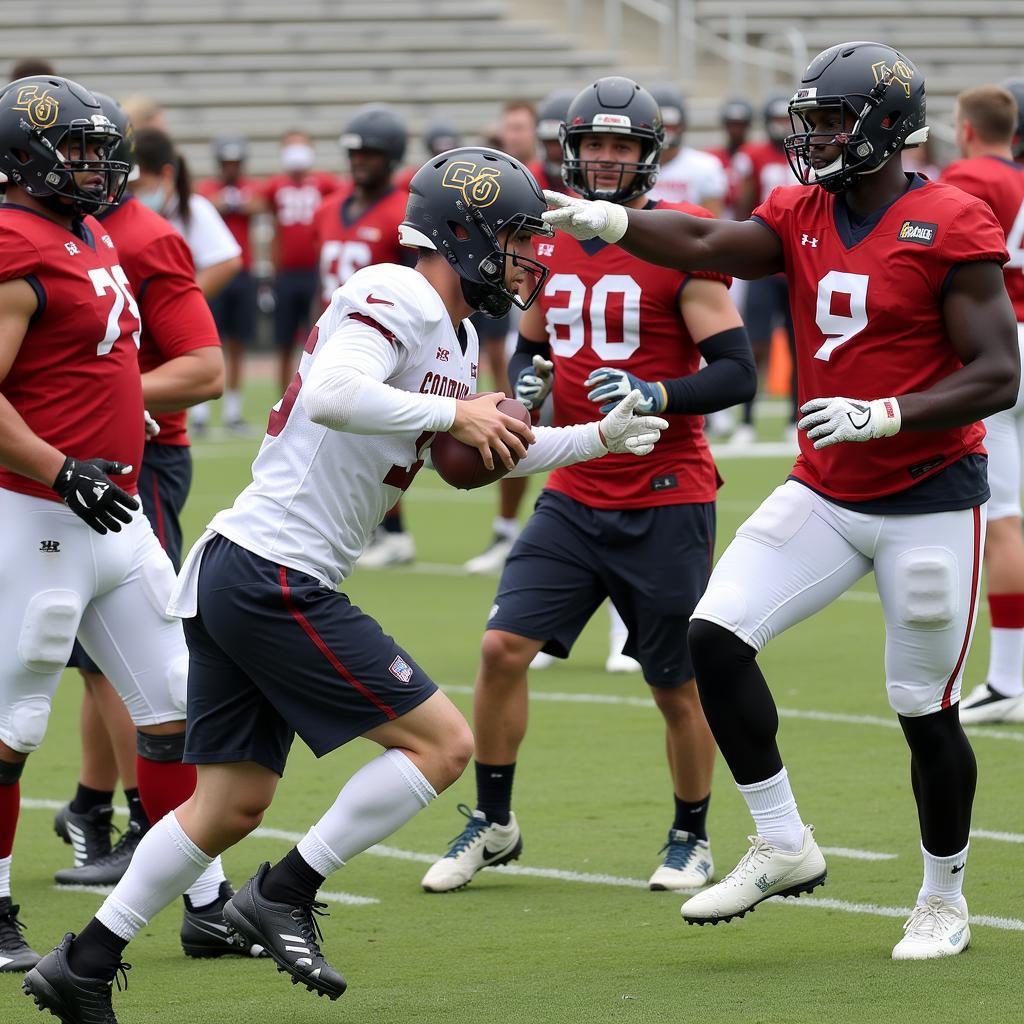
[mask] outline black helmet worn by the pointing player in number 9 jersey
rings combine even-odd
[[[845,117],[840,131],[815,131],[811,112],[833,111]],[[905,145],[928,138],[925,78],[899,50],[884,43],[841,43],[810,63],[790,100],[794,134],[785,140],[793,173],[804,184],[844,191],[872,174]],[[838,145],[827,167],[815,168],[814,143]]]

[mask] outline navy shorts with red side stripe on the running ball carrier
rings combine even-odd
[[[223,537],[203,551],[184,630],[187,764],[255,761],[282,775],[296,733],[319,758],[437,690],[344,594]]]

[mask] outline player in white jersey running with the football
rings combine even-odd
[[[401,234],[416,267],[367,267],[335,292],[270,413],[253,482],[214,517],[171,597],[191,654],[196,793],[150,829],[82,934],[65,936],[26,976],[41,1007],[114,1022],[112,979],[129,940],[259,824],[295,733],[317,756],[360,735],[383,752],[224,913],[296,982],[331,998],[344,991],[317,942],[317,890],[451,785],[473,740],[412,655],[338,584],[438,431],[478,449],[488,468],[520,456],[513,471],[528,473],[609,451],[646,454],[667,425],[634,415],[637,392],[600,423],[538,428],[535,439],[498,411],[499,395],[464,400],[478,360],[467,317],[532,301],[546,276],[530,257],[543,212],[521,164],[453,151],[411,183]]]

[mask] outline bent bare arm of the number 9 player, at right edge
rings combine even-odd
[[[904,430],[974,423],[1017,400],[1017,321],[999,265],[986,261],[961,266],[946,291],[942,318],[964,367],[927,391],[899,396]]]

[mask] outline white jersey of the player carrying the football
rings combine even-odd
[[[431,432],[357,434],[313,423],[303,378],[348,317],[372,324],[399,352],[385,384],[464,398],[476,390],[476,331],[463,322],[465,351],[440,296],[422,274],[390,263],[358,270],[334,293],[299,371],[270,414],[253,481],[210,529],[272,562],[336,587],[349,574],[384,513],[413,481]]]

